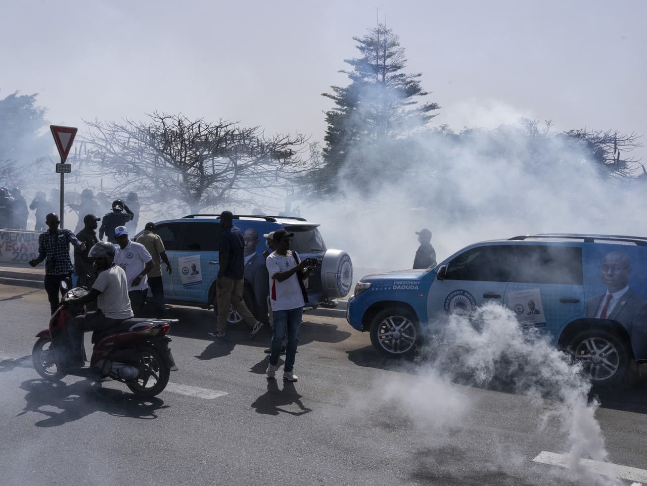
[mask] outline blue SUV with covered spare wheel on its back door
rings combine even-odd
[[[162,272],[164,297],[169,304],[215,309],[215,277],[218,273],[219,215],[188,215],[155,223],[164,242],[172,273]],[[245,291],[248,309],[259,321],[267,322],[269,277],[263,251],[264,234],[285,228],[294,233],[292,249],[300,257],[322,259],[322,266],[304,282],[310,308],[337,297],[345,297],[353,282],[353,264],[345,251],[327,249],[319,225],[304,218],[234,215],[234,226],[245,239]],[[229,322],[241,317],[232,310]]]

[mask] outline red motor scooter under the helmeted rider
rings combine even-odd
[[[67,288],[65,282],[61,286]],[[85,289],[73,288],[65,293],[63,302],[83,295],[87,295]],[[39,339],[32,350],[32,361],[41,377],[48,381],[60,380],[67,374],[111,378],[126,383],[131,392],[142,397],[153,397],[166,388],[170,372],[177,371],[168,346],[171,338],[166,333],[177,319],[133,317],[107,330],[94,331],[90,367],[78,372],[63,370],[60,363],[69,346],[67,323],[85,312],[85,306],[61,304],[49,321],[49,329],[36,334]]]

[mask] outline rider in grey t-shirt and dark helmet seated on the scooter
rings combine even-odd
[[[115,266],[115,246],[100,241],[88,254],[93,259],[97,271],[96,280],[89,293],[83,297],[64,302],[69,304],[87,304],[97,301],[98,310],[78,315],[68,325],[72,357],[69,366],[83,366],[83,332],[102,331],[116,326],[125,319],[133,317],[133,310],[128,299],[128,282],[126,272]]]

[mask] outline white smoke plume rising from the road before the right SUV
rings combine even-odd
[[[537,430],[556,422],[564,432],[554,436],[545,430],[554,450],[567,452],[570,480],[582,485],[622,484],[610,472],[600,476],[579,463],[580,458],[604,462],[608,454],[595,419],[599,404],[588,399],[591,384],[567,355],[540,333],[522,330],[514,313],[498,304],[482,306],[472,315],[451,315],[439,324],[442,332],[419,359],[410,368],[404,365],[404,371],[413,374],[380,376],[372,392],[353,397],[353,408],[373,414],[397,409],[413,422],[412,427],[428,430],[437,441],[463,427],[472,408],[469,394],[452,382],[504,387],[529,397],[536,413],[531,410],[525,416],[536,417]],[[523,465],[503,444],[490,453],[491,463],[504,472],[514,474]]]

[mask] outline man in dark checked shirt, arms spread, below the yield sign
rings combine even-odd
[[[60,304],[59,290],[61,282],[67,282],[72,288],[72,260],[70,260],[70,243],[81,251],[85,245],[80,242],[69,229],[60,229],[61,223],[56,213],[49,213],[45,217],[49,230],[38,237],[38,257],[29,260],[35,267],[45,260],[45,291],[49,299],[49,307],[54,315]]]

